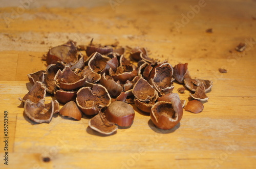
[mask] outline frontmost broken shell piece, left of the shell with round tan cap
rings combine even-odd
[[[100,111],[98,115],[89,120],[88,125],[101,134],[110,135],[117,130],[115,123],[108,121]]]

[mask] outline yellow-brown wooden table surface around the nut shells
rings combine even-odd
[[[255,0],[113,0],[90,8],[84,1],[81,7],[79,1],[66,5],[71,8],[38,3],[24,8],[17,2],[0,9],[0,168],[255,167]],[[58,116],[49,124],[32,124],[18,100],[31,87],[27,74],[46,68],[41,56],[51,46],[69,39],[86,45],[91,38],[101,44],[146,47],[150,57],[173,66],[187,62],[193,78],[214,81],[204,110],[184,111],[180,124],[165,131],[134,107],[131,128],[111,136],[93,131],[85,117],[72,121]],[[243,52],[234,49],[240,42],[247,43]],[[175,83],[174,93],[178,87]],[[179,95],[188,100],[188,94]]]

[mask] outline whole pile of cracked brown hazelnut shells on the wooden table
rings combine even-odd
[[[28,74],[33,87],[19,98],[26,116],[49,123],[55,113],[74,120],[84,115],[93,130],[106,135],[133,124],[131,104],[150,114],[156,127],[171,129],[180,122],[185,105],[173,93],[173,83],[184,84],[180,93],[191,91],[193,100],[185,110],[194,113],[203,110],[201,101],[208,99],[205,93],[212,87],[210,80],[191,78],[187,63],[173,67],[150,58],[141,47],[102,46],[93,40],[76,45],[70,40],[50,48],[45,60],[47,69]],[[50,103],[45,103],[47,93],[55,98]]]

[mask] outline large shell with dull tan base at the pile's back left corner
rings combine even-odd
[[[70,45],[55,46],[48,51],[46,62],[48,65],[56,64],[58,61],[64,63],[76,62],[76,52],[77,49],[73,42]]]

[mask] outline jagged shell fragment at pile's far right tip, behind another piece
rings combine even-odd
[[[193,91],[193,92],[196,92],[200,83],[204,84],[205,92],[208,92],[211,89],[213,82],[211,80],[203,80],[203,79],[196,79],[196,78],[192,79],[192,78],[189,78],[189,77],[184,79],[185,86],[190,91]]]

